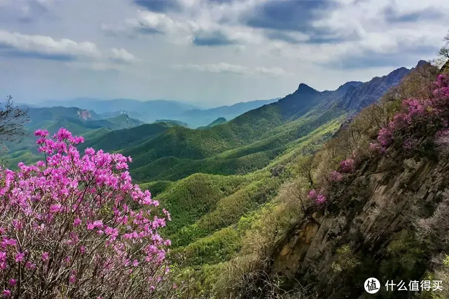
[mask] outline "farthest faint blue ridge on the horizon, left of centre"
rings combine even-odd
[[[198,109],[194,105],[177,101],[138,101],[132,99],[98,100],[80,98],[66,101],[44,101],[38,105],[40,107],[76,106],[86,110],[93,110],[98,114],[112,113],[115,114],[114,116],[117,116],[117,112],[126,111],[128,114],[138,113],[141,116],[139,119],[145,122],[154,122],[160,118],[174,119],[182,115],[184,111]]]

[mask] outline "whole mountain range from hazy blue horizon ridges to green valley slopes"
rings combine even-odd
[[[162,232],[172,240],[171,258],[185,257],[183,265],[192,270],[200,292],[212,288],[207,281],[218,280],[225,262],[242,256],[239,250],[246,234],[260,225],[266,211],[279,207],[272,199],[295,177],[302,159],[322,149],[358,112],[414,70],[398,68],[368,82],[347,82],[336,90],[318,91],[301,83],[280,99],[207,110],[170,103],[177,107],[178,117],[154,115],[149,123],[131,117],[134,102],[109,111],[92,109],[96,104],[29,108],[31,122],[26,127],[30,132],[40,128],[53,133],[64,126],[85,137],[78,146],[81,152],[92,147],[131,156],[134,182],[149,189],[172,214]],[[240,110],[244,111],[234,117]],[[143,108],[133,113],[146,114]],[[32,141],[30,137],[12,145],[3,158],[11,166],[42,158],[30,149]]]

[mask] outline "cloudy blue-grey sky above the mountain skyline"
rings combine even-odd
[[[0,0],[0,93],[204,107],[436,57],[444,0]]]

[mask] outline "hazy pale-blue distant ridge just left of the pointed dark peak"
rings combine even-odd
[[[279,98],[271,100],[255,100],[249,102],[240,102],[230,106],[220,106],[211,109],[193,109],[185,111],[177,120],[183,121],[189,124],[192,128],[198,128],[200,126],[207,126],[214,120],[223,117],[227,120],[234,119],[242,113],[249,110],[259,108],[263,105],[271,104],[279,100]]]

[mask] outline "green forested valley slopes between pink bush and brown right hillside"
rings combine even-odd
[[[280,188],[296,177],[298,159],[320,149],[360,103],[376,100],[401,74],[354,83],[352,93],[345,88],[318,92],[301,84],[275,103],[231,121],[217,119],[201,130],[169,120],[116,131],[102,121],[87,122],[98,127],[86,128],[82,120],[65,120],[73,126],[69,130],[85,135],[80,150],[92,147],[133,158],[133,179],[172,215],[161,233],[172,240],[170,257],[182,265],[176,274],[193,276],[195,292],[202,292],[217,283],[236,255],[260,258],[262,251],[254,253],[255,248],[267,252],[279,241],[302,213]],[[109,121],[127,119],[120,115]],[[54,129],[59,120],[41,125]],[[32,158],[26,150],[16,154],[9,159]]]

